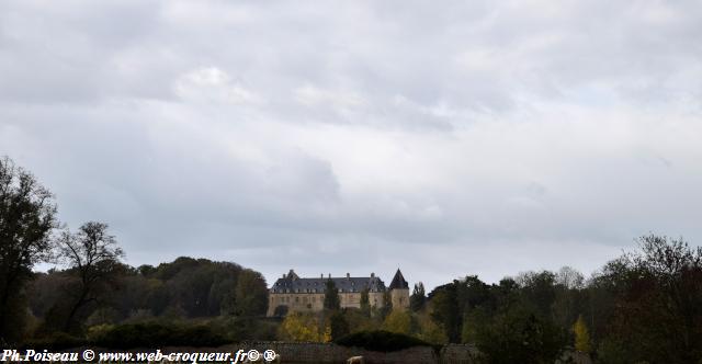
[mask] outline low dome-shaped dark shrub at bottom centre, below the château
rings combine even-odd
[[[384,330],[355,332],[337,340],[336,343],[380,352],[392,352],[412,346],[433,346],[417,338]]]

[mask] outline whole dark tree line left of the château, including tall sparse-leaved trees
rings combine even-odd
[[[179,258],[129,266],[107,224],[71,231],[52,193],[29,171],[0,159],[0,342],[162,318],[257,318],[265,314],[263,276],[236,263]],[[33,272],[35,264],[61,269]]]

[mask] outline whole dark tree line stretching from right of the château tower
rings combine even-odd
[[[427,297],[449,342],[475,343],[492,363],[553,363],[566,350],[600,363],[702,360],[702,248],[641,237],[585,278],[570,268],[487,284],[466,276]]]

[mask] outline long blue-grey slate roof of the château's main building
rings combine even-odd
[[[339,293],[361,292],[366,287],[369,292],[385,292],[385,283],[373,274],[364,277],[301,278],[291,270],[284,277],[275,281],[271,293],[324,293],[328,280],[333,281]]]

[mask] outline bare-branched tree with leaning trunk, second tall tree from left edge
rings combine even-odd
[[[89,221],[77,234],[63,231],[60,257],[66,260],[69,271],[78,277],[78,287],[73,292],[70,310],[66,317],[64,330],[75,330],[78,311],[89,303],[97,303],[104,285],[113,281],[120,259],[124,257],[114,236],[107,234],[107,224]]]

